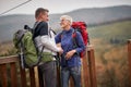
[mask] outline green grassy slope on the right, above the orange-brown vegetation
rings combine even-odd
[[[131,39],[131,21],[122,21],[88,28],[91,39],[102,39],[112,45],[126,45]]]

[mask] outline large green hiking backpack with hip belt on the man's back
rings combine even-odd
[[[13,42],[17,49],[19,58],[23,69],[33,67],[47,61],[52,61],[52,54],[49,52],[37,51],[33,40],[33,34],[29,30],[20,29],[13,36]]]

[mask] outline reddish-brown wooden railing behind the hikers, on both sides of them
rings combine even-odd
[[[97,87],[94,49],[92,47],[87,49],[87,54],[82,59],[82,87]],[[58,72],[57,87],[60,87],[59,75],[60,72]],[[39,80],[37,67],[23,70],[16,55],[0,58],[0,84],[2,87],[9,87],[9,85],[11,87],[43,87],[43,83],[38,83]],[[72,79],[70,79],[70,87],[74,87]]]

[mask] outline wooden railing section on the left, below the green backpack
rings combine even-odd
[[[23,70],[16,55],[0,58],[0,80],[2,87],[36,87],[34,69]],[[27,76],[27,72],[29,76]],[[29,79],[28,79],[29,78]]]

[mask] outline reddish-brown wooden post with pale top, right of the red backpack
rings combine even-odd
[[[88,65],[90,65],[90,82],[91,87],[97,87],[96,83],[96,70],[95,70],[95,57],[93,46],[88,46],[87,49]]]

